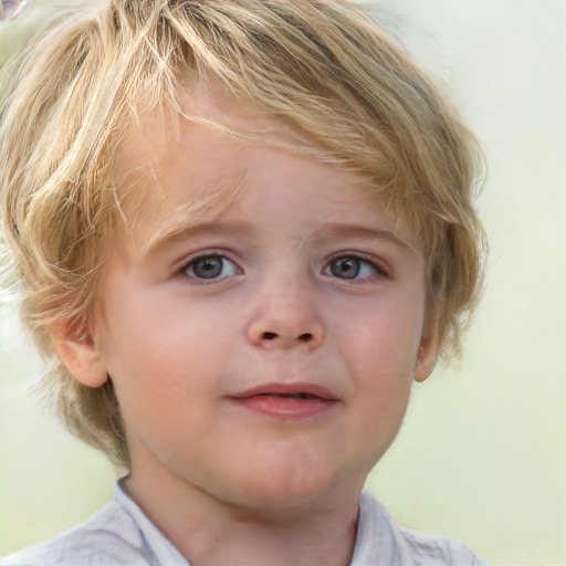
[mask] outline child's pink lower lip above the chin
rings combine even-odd
[[[279,397],[271,395],[253,395],[244,398],[233,398],[240,407],[252,412],[259,412],[281,420],[301,420],[323,415],[331,410],[337,401],[319,397],[298,399],[296,397]]]

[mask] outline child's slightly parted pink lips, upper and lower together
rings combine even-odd
[[[321,416],[338,403],[326,387],[307,384],[263,384],[230,397],[239,407],[280,420],[303,420]]]

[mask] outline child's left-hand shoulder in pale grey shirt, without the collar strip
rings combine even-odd
[[[149,551],[150,553],[150,551]],[[134,520],[115,501],[90,521],[2,560],[2,566],[133,566],[154,564]]]

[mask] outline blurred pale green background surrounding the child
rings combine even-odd
[[[402,523],[493,565],[565,565],[566,2],[379,3],[484,144],[491,254],[462,363],[415,387],[368,485]],[[32,15],[0,25],[0,55]],[[27,396],[41,364],[0,315],[1,555],[87,517],[115,473]]]

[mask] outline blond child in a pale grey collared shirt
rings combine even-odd
[[[473,137],[343,0],[97,0],[1,107],[3,238],[70,430],[128,473],[7,565],[476,565],[364,482],[478,294]]]

